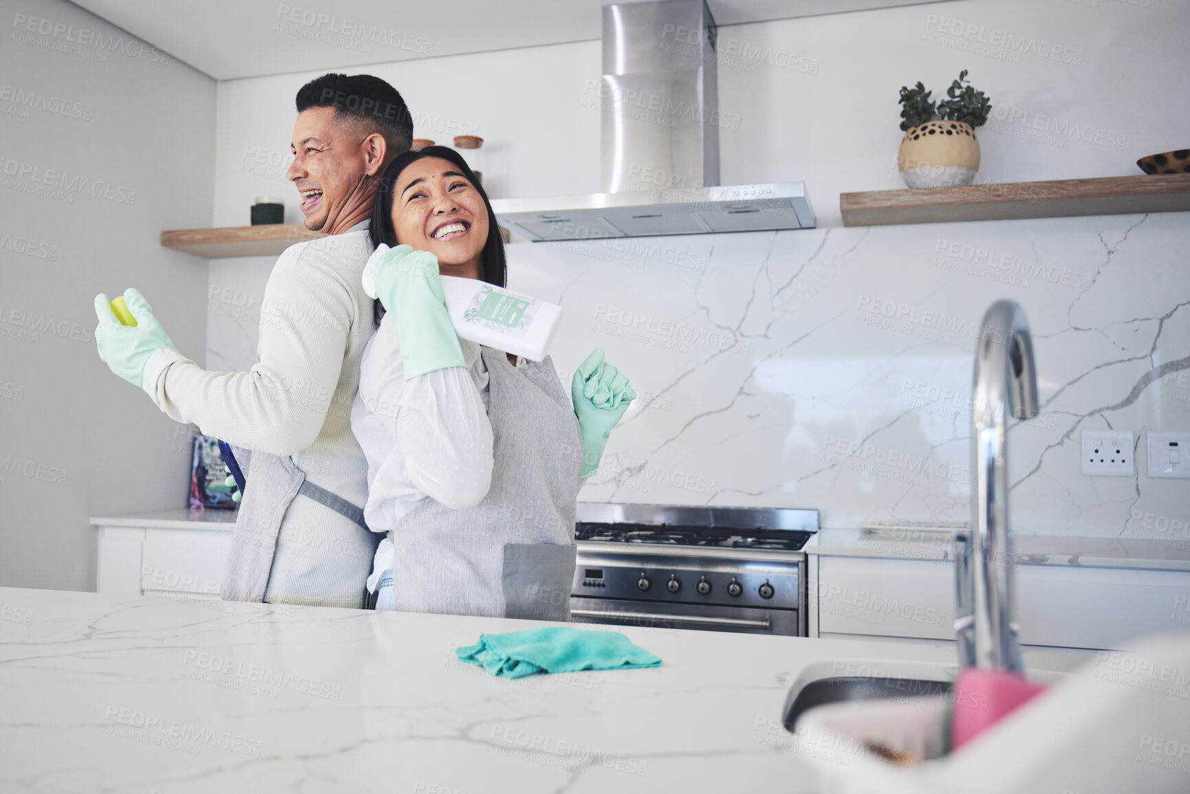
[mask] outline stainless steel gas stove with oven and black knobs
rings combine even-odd
[[[818,511],[578,505],[578,623],[806,634]]]

